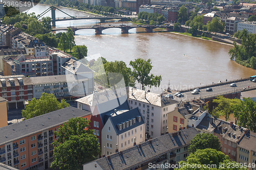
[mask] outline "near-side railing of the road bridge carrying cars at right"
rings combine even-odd
[[[239,93],[239,92],[244,92],[244,91],[249,91],[249,90],[254,90],[254,89],[256,89],[256,85],[255,86],[249,86],[249,88],[245,87],[245,89],[244,88],[235,89],[235,87],[234,87],[234,90],[229,90],[229,91],[225,91],[225,92],[221,92],[221,93],[216,93],[216,94],[211,94],[211,95],[196,96],[193,99],[185,99],[183,101],[190,102],[192,100],[198,100],[198,99],[209,99],[209,98],[214,98],[214,97],[216,97],[218,95],[227,95],[227,94],[231,94],[231,93]]]

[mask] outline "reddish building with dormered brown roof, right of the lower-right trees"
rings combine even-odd
[[[234,125],[233,122],[226,122],[222,120],[215,129],[216,135],[221,144],[221,151],[228,155],[231,161],[237,160],[237,144],[239,140],[248,132],[248,129]]]

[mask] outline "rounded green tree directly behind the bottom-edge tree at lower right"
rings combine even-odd
[[[192,140],[189,147],[189,152],[195,153],[198,149],[216,149],[221,150],[221,143],[217,136],[208,133],[199,133]]]

